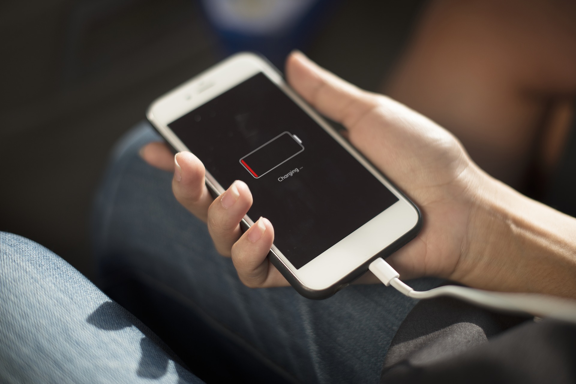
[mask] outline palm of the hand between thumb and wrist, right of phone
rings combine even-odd
[[[432,121],[384,97],[376,97],[349,130],[354,146],[423,214],[421,233],[391,264],[403,277],[449,277],[465,247],[470,203],[464,192],[476,169],[463,147]]]

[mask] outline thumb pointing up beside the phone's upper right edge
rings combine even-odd
[[[350,130],[377,106],[373,94],[321,68],[300,51],[286,59],[286,78],[312,107]]]

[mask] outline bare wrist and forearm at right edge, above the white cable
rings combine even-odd
[[[479,172],[450,278],[486,290],[576,298],[576,219]]]

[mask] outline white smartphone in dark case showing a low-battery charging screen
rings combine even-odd
[[[300,294],[327,298],[418,234],[418,208],[286,84],[241,53],[154,101],[147,117],[176,151],[191,151],[220,195],[252,192],[242,220],[274,226],[272,264]]]

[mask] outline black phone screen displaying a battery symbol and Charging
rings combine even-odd
[[[248,184],[298,269],[398,201],[262,73],[168,125],[223,188]]]

